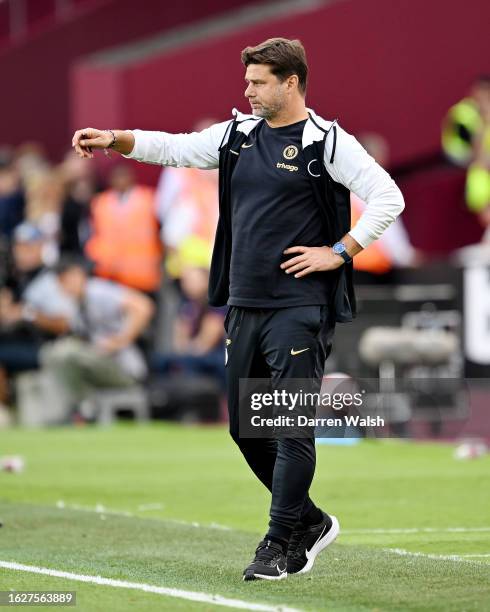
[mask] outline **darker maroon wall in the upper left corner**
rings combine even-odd
[[[17,43],[0,48],[0,141],[17,145],[39,140],[53,157],[59,156],[70,140],[69,70],[75,60],[247,3],[86,0],[71,17],[55,22],[47,17],[52,9],[47,0],[30,0],[30,29]],[[5,26],[7,5],[0,8]],[[38,14],[34,22],[33,14]],[[2,32],[5,36],[5,27]],[[93,92],[94,98],[99,94]]]

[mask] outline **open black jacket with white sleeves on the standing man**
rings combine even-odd
[[[228,300],[231,255],[230,183],[241,145],[261,118],[233,111],[234,118],[202,132],[169,134],[134,130],[131,159],[163,166],[220,170],[220,217],[213,250],[209,300],[221,306]],[[336,122],[326,121],[308,109],[303,130],[303,154],[312,191],[320,207],[332,245],[347,232],[363,247],[381,236],[404,208],[403,196],[389,174],[368,155],[357,140]],[[367,204],[361,218],[350,229],[350,191]],[[349,321],[355,315],[352,264],[325,273],[335,283],[330,312],[333,320]],[[332,291],[329,291],[332,294]]]

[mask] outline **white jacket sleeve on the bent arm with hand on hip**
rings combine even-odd
[[[405,208],[395,181],[360,143],[337,125],[337,145],[333,163],[333,130],[327,136],[325,167],[334,181],[341,183],[366,203],[356,225],[349,234],[362,247],[378,239]]]

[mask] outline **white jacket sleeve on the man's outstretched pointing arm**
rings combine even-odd
[[[219,147],[230,123],[216,123],[202,132],[190,134],[132,130],[134,147],[124,157],[161,166],[217,168]]]

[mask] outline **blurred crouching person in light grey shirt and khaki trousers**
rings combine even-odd
[[[62,259],[55,272],[78,315],[71,337],[43,347],[41,364],[55,382],[53,397],[63,403],[59,412],[69,418],[97,389],[129,387],[146,376],[136,340],[153,305],[138,291],[90,277],[83,262]]]

